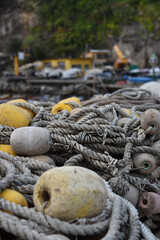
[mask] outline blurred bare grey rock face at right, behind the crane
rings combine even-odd
[[[123,27],[118,45],[125,57],[132,60],[140,68],[149,65],[153,53],[160,59],[160,39],[155,34],[149,34],[141,25],[133,23]]]

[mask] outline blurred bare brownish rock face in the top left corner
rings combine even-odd
[[[37,23],[35,2],[31,0],[6,0],[8,6],[0,6],[0,52],[7,52],[7,44],[13,38],[24,39],[29,28]]]

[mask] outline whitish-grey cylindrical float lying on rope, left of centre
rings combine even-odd
[[[11,133],[10,145],[17,155],[44,154],[50,148],[50,132],[42,127],[17,128]]]

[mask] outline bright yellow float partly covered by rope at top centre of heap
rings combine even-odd
[[[54,105],[51,110],[51,113],[56,114],[62,110],[68,110],[70,112],[72,110],[72,107],[70,105],[68,105],[69,101],[75,101],[76,103],[81,105],[81,102],[80,102],[79,98],[77,98],[77,97],[66,98],[66,99],[60,101],[59,103],[57,103],[56,105]]]

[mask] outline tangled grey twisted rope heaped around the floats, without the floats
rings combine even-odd
[[[0,192],[6,188],[17,190],[29,204],[29,208],[22,207],[0,198],[0,228],[17,239],[28,240],[160,239],[160,214],[145,215],[138,204],[134,206],[125,199],[131,186],[138,189],[140,196],[147,192],[160,194],[160,167],[144,175],[133,164],[134,154],[140,153],[152,154],[159,161],[160,151],[152,148],[158,134],[143,131],[137,117],[147,109],[160,110],[159,102],[145,90],[123,89],[95,96],[82,102],[82,106],[71,101],[72,107],[80,108],[72,116],[66,110],[51,114],[53,102],[14,103],[36,114],[30,126],[49,130],[51,144],[46,155],[53,164],[0,151]],[[117,126],[122,117],[129,120],[123,127]],[[0,125],[0,144],[10,143],[14,130]],[[55,166],[82,166],[104,179],[108,198],[100,215],[67,222],[35,210],[34,185],[42,173]]]

